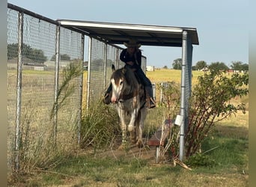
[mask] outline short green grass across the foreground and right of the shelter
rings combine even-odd
[[[237,136],[236,132],[241,133]],[[201,157],[204,165],[189,165],[192,171],[168,162],[156,165],[152,160],[135,156],[113,157],[82,151],[58,158],[55,168],[31,174],[26,183],[28,186],[248,186],[247,132],[246,127],[216,126],[201,147],[203,153],[210,150],[203,154],[207,159]]]

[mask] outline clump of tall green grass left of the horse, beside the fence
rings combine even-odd
[[[82,117],[80,147],[99,149],[112,146],[121,135],[118,114],[112,105],[97,102]]]

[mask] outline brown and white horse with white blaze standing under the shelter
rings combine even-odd
[[[147,115],[144,88],[139,84],[135,74],[129,67],[115,70],[115,66],[112,65],[112,70],[111,101],[117,104],[118,115],[121,120],[122,144],[120,148],[126,142],[127,129],[129,131],[130,141],[136,143],[138,147],[142,147],[142,130]],[[129,117],[128,126],[125,123],[127,115]]]

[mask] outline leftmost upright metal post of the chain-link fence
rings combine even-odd
[[[16,83],[16,133],[15,133],[15,151],[14,151],[14,169],[19,170],[19,151],[21,144],[20,135],[20,117],[21,117],[21,99],[22,99],[22,42],[23,42],[23,15],[19,12],[19,31],[18,31],[18,70]]]

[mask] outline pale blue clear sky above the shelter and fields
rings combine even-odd
[[[8,0],[50,19],[196,28],[192,64],[249,63],[249,0]],[[87,46],[85,44],[85,46]],[[124,47],[124,46],[123,46]],[[141,46],[147,65],[172,67],[180,47]],[[87,58],[85,52],[85,60]]]

